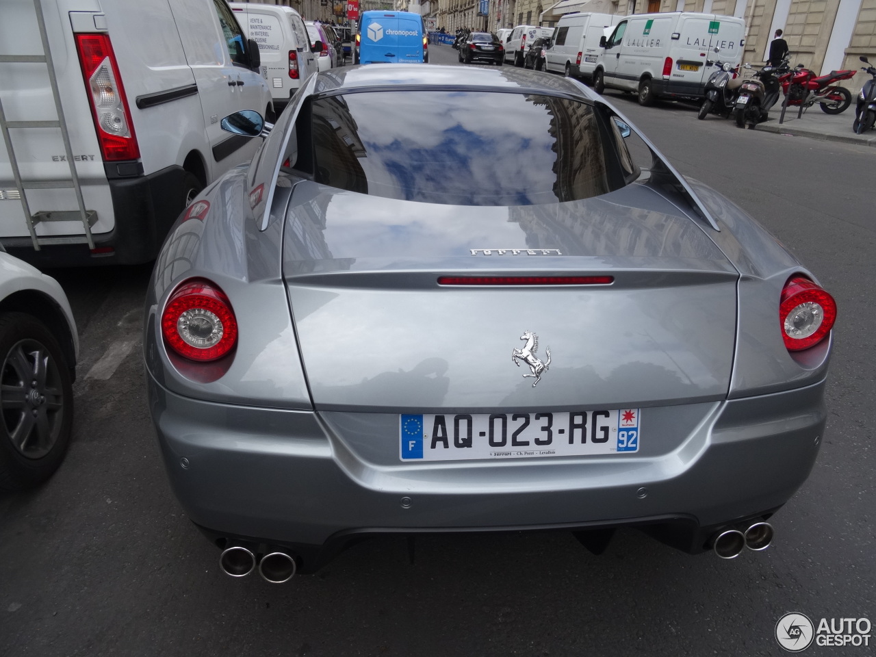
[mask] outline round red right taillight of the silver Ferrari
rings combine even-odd
[[[788,280],[781,291],[779,323],[788,351],[820,343],[837,319],[837,302],[821,286],[803,276]]]

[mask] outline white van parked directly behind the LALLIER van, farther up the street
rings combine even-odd
[[[599,40],[605,36],[606,28],[618,25],[623,18],[592,12],[562,16],[545,55],[548,71],[590,79],[597,65],[597,55],[602,52]]]

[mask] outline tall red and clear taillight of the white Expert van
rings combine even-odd
[[[131,122],[131,110],[128,109],[109,35],[76,34],[75,38],[104,161],[138,159],[140,149]]]

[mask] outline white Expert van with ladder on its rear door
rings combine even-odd
[[[147,262],[258,149],[219,124],[270,109],[258,46],[224,0],[34,5],[0,10],[0,244],[39,266]]]

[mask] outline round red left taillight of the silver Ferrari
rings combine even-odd
[[[161,314],[165,343],[181,357],[211,361],[237,343],[237,318],[228,297],[207,279],[182,283]]]

